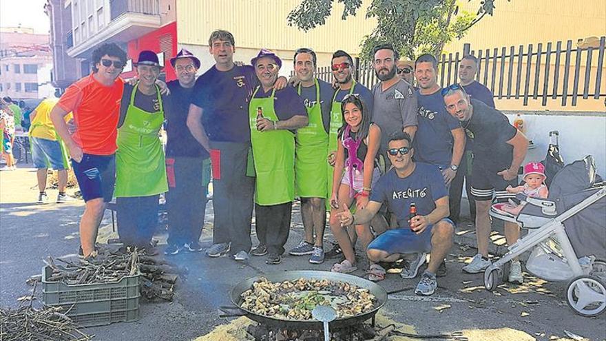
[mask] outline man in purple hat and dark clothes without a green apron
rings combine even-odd
[[[206,210],[206,193],[210,180],[210,158],[187,128],[187,113],[194,95],[196,72],[200,60],[182,49],[170,60],[178,79],[169,81],[170,96],[165,102],[167,119],[166,170],[168,247],[164,253],[181,250],[202,251],[198,243]]]

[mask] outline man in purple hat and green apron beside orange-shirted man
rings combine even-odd
[[[118,235],[126,246],[146,249],[158,225],[158,195],[168,191],[165,156],[158,132],[164,123],[164,99],[156,80],[160,61],[143,50],[135,63],[138,83],[125,85],[118,120],[116,204]]]

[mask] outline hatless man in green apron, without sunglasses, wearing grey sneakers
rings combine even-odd
[[[333,87],[315,77],[317,58],[309,48],[300,48],[294,57],[295,74],[300,83],[297,93],[307,109],[309,124],[297,130],[295,137],[295,193],[301,198],[301,216],[305,232],[299,245],[289,251],[293,256],[311,255],[309,262],[324,262],[326,227],[328,130],[331,121]],[[315,236],[314,236],[315,234]]]

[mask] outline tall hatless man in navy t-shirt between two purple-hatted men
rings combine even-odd
[[[209,38],[209,52],[216,61],[194,85],[187,127],[198,143],[209,150],[213,172],[213,245],[205,254],[231,254],[246,260],[251,249],[254,172],[249,100],[259,81],[250,65],[235,65],[233,34],[216,30]],[[280,77],[275,87],[285,87]],[[249,166],[249,167],[247,167]]]

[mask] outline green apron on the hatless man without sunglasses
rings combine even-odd
[[[301,94],[301,84],[297,89]],[[297,129],[295,137],[295,190],[302,198],[326,198],[326,176],[317,173],[326,163],[328,134],[324,130],[322,105],[320,104],[320,84],[315,79],[315,105],[307,108],[309,124]]]

